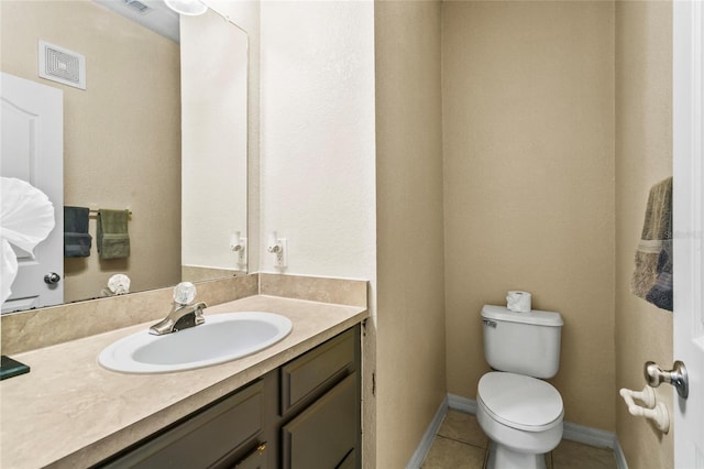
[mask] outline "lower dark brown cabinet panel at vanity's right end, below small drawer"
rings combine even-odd
[[[282,428],[284,469],[331,469],[345,462],[358,441],[356,395],[354,372]]]

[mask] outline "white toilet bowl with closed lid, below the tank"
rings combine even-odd
[[[476,419],[494,441],[491,462],[501,469],[544,468],[544,454],[562,438],[562,397],[549,383],[507,372],[482,377]]]

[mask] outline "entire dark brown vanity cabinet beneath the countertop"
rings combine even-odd
[[[99,468],[360,468],[355,326],[98,465]]]

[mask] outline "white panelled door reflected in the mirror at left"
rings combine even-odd
[[[0,173],[26,181],[54,204],[56,226],[34,255],[15,248],[19,271],[2,313],[64,302],[64,94],[50,86],[0,75]],[[44,277],[61,280],[47,283]],[[51,277],[50,277],[51,281]]]

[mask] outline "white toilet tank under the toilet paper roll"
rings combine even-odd
[[[494,369],[535,378],[552,378],[560,368],[562,316],[504,306],[482,308],[484,358]]]

